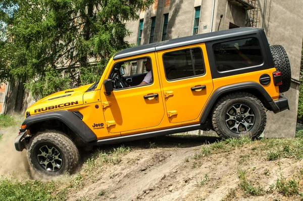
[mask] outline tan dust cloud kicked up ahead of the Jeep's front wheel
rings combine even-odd
[[[3,134],[0,140],[0,175],[29,179],[26,150],[17,152],[14,145],[15,138],[19,133],[19,126],[17,124],[16,126],[0,129],[0,134]]]

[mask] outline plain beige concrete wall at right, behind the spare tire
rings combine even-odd
[[[264,1],[260,1],[264,5]],[[301,0],[267,0],[265,4],[264,29],[271,45],[281,44],[286,49],[290,66],[291,77],[298,80],[300,72],[301,48],[303,38],[303,1]],[[295,122],[298,105],[298,84],[295,80],[291,89],[285,92],[288,98],[290,111],[281,114],[268,114],[266,137],[277,135],[292,137],[295,133]],[[274,126],[273,126],[274,125]],[[273,127],[274,129],[270,129]]]

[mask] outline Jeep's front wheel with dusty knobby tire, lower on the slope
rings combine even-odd
[[[46,161],[46,155],[51,153],[51,151],[49,151],[50,149],[52,150],[52,153],[56,153],[54,156],[56,155],[56,157],[60,159],[54,159],[48,163],[45,162],[47,163],[47,166],[41,164],[44,161],[44,158]],[[43,152],[41,152],[41,150],[43,150]],[[45,150],[46,152],[44,152]],[[41,157],[41,155],[43,156]],[[42,177],[56,177],[64,173],[72,173],[77,167],[80,158],[79,150],[75,143],[68,136],[59,131],[44,131],[34,135],[29,142],[27,156],[32,169]],[[54,168],[55,164],[59,164],[60,168],[57,166]],[[49,169],[47,167],[53,168],[53,170],[47,170]]]

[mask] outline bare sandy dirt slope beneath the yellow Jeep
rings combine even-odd
[[[203,145],[217,139],[203,136],[166,136],[151,139],[154,142],[133,142],[130,146],[135,143],[143,146],[133,146],[135,148],[123,156],[119,164],[103,164],[100,172],[89,173],[85,171],[85,164],[80,173],[83,183],[69,192],[68,200],[285,198],[277,189],[273,192],[267,191],[281,175],[291,178],[300,170],[303,161],[269,161],[267,151],[260,152],[259,142],[227,148],[217,144],[219,152],[212,144]],[[150,144],[153,144],[152,148]],[[210,146],[212,154],[205,149]],[[244,181],[243,178],[240,179],[240,172],[245,174]],[[243,190],[244,185],[252,191]]]

